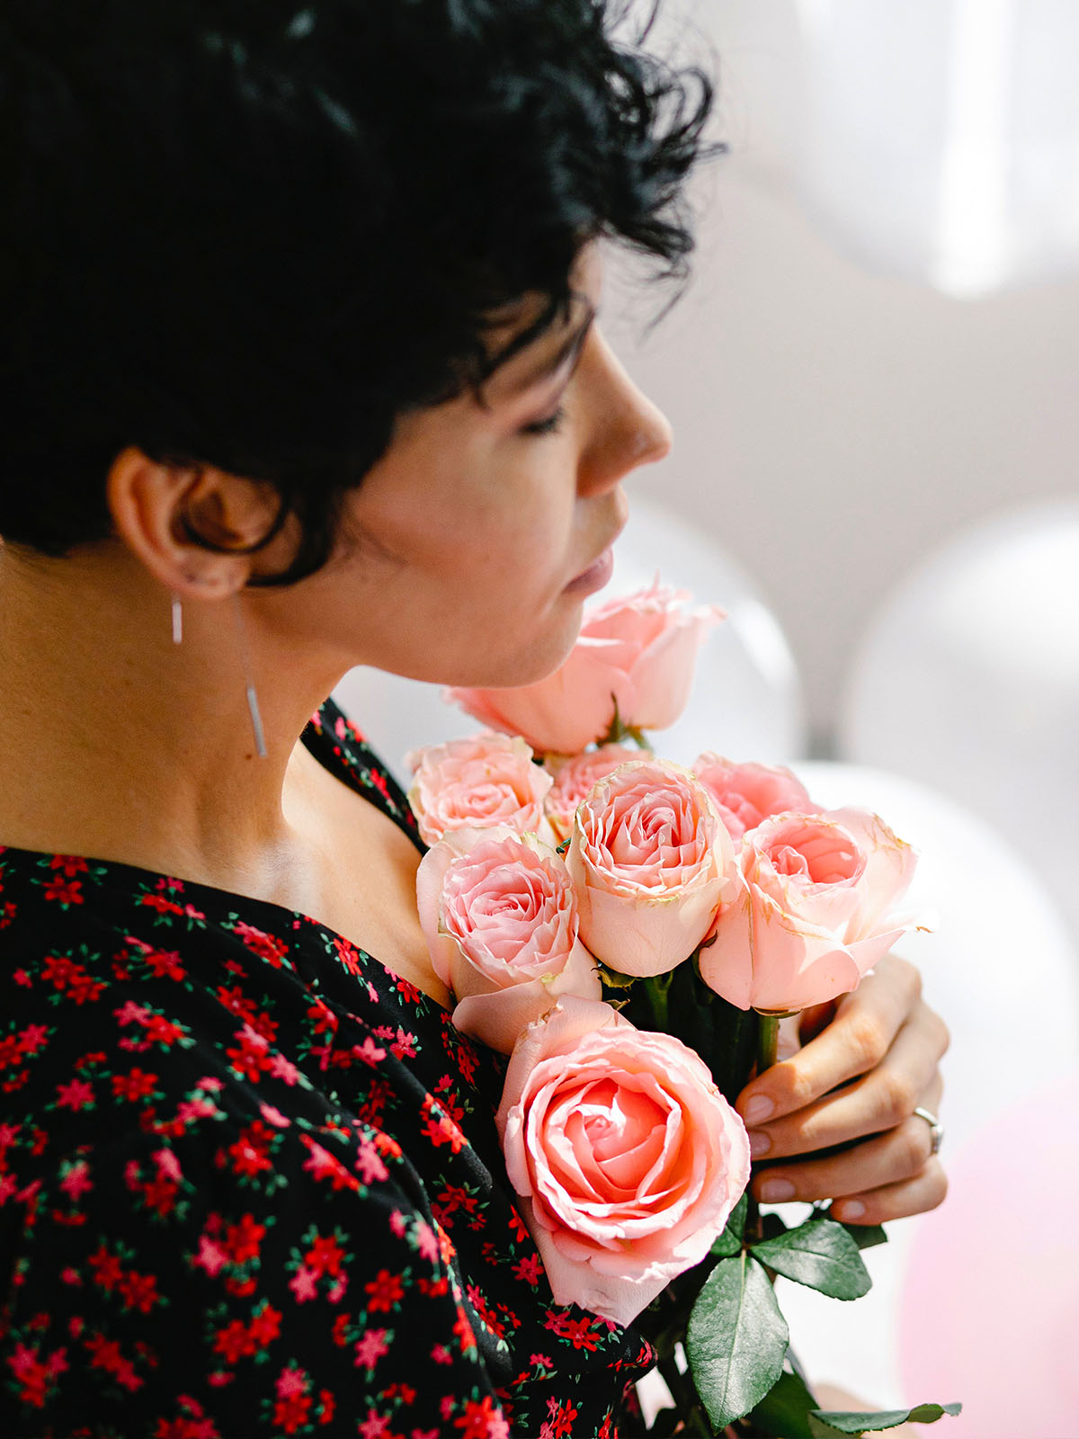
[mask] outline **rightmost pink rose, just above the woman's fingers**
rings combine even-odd
[[[909,845],[869,810],[774,814],[742,839],[738,896],[701,950],[701,976],[739,1009],[787,1012],[857,987],[912,921],[892,912]]]

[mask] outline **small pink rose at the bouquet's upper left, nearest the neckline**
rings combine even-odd
[[[554,781],[532,764],[524,740],[476,734],[413,750],[406,763],[414,771],[409,803],[424,843],[434,845],[447,830],[486,825],[551,837],[544,797]]]

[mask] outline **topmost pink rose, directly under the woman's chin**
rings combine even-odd
[[[724,619],[716,604],[686,610],[686,590],[650,584],[586,614],[570,658],[518,689],[447,689],[446,698],[540,753],[580,754],[610,728],[666,730],[689,699],[696,652]]]

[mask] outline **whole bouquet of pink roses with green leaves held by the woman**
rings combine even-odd
[[[455,1025],[509,1055],[496,1122],[554,1298],[655,1344],[650,1433],[827,1436],[931,1422],[817,1407],[770,1278],[852,1299],[882,1230],[755,1213],[729,1099],[778,1019],[853,990],[914,921],[914,852],[786,768],[656,758],[715,607],[610,600],[565,665],[450,691],[492,727],[410,755],[420,921]],[[688,1371],[676,1363],[678,1347]]]

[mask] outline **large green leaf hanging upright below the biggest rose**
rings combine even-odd
[[[721,1259],[686,1331],[689,1370],[716,1429],[747,1415],[783,1373],[787,1321],[768,1275],[747,1255]]]

